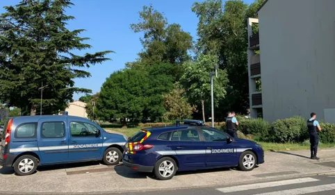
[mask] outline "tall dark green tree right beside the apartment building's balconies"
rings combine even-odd
[[[245,112],[249,106],[247,80],[247,17],[256,17],[263,0],[250,6],[241,0],[208,0],[193,4],[199,17],[197,51],[218,56],[222,69],[227,70],[227,96],[220,110]]]

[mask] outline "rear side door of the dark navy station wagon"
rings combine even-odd
[[[176,150],[179,162],[184,167],[205,167],[206,149],[195,128],[177,130],[172,133],[172,139],[179,139]]]

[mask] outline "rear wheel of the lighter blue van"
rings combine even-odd
[[[18,176],[28,176],[35,173],[38,168],[38,160],[32,155],[22,155],[13,164]]]

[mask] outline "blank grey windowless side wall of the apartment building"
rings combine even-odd
[[[316,112],[335,122],[334,8],[334,0],[269,0],[259,11],[264,119]]]

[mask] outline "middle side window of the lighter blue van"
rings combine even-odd
[[[42,137],[60,138],[65,136],[65,124],[62,121],[42,123]]]

